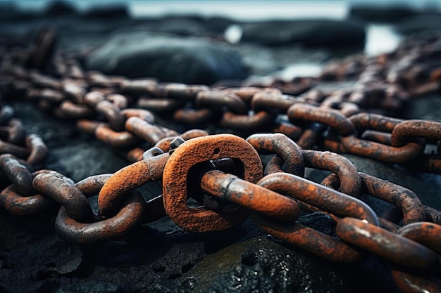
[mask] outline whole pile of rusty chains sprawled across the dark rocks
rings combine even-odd
[[[54,54],[54,34],[42,30],[31,48],[2,48],[1,94],[75,119],[83,131],[124,150],[132,164],[77,183],[42,169],[46,145],[2,103],[0,176],[10,184],[0,193],[4,209],[25,216],[61,205],[56,233],[78,245],[167,215],[182,229],[205,233],[251,214],[267,233],[324,259],[353,262],[366,252],[387,259],[404,292],[441,292],[433,281],[441,276],[441,212],[403,186],[359,173],[337,154],[441,173],[437,151],[425,152],[440,149],[441,123],[385,116],[439,90],[441,68],[431,63],[440,58],[439,39],[404,42],[375,58],[355,56],[325,67],[320,77],[230,87],[85,72],[79,60]],[[311,89],[347,80],[356,82],[344,90]],[[190,130],[156,124],[158,116]],[[247,139],[197,129],[213,126]],[[263,169],[265,154],[275,155]],[[304,178],[306,167],[332,174],[315,183]],[[152,181],[162,182],[163,194],[146,201],[137,188]],[[393,207],[377,216],[361,194]],[[87,201],[93,195],[98,211]],[[189,207],[189,197],[202,205]],[[297,223],[301,209],[332,217],[338,237]]]

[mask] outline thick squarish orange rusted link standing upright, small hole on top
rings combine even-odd
[[[238,159],[243,164],[243,179],[256,183],[261,178],[259,154],[244,139],[231,134],[202,136],[180,145],[170,155],[163,172],[164,208],[178,226],[192,232],[225,230],[239,224],[247,213],[240,209],[220,211],[187,206],[187,174],[194,164],[210,159]],[[242,177],[242,176],[241,176]]]

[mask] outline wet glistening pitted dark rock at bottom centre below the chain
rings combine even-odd
[[[254,237],[221,249],[152,292],[382,292],[371,272],[309,257],[277,240]],[[393,290],[395,289],[395,291]],[[389,292],[397,292],[393,288]]]

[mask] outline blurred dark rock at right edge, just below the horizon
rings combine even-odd
[[[421,13],[406,18],[396,27],[401,34],[414,34],[426,30],[441,30],[441,13]]]

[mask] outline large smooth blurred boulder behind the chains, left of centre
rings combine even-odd
[[[89,70],[128,77],[156,77],[161,82],[213,84],[242,79],[247,69],[227,45],[198,38],[145,33],[116,35],[89,54]]]

